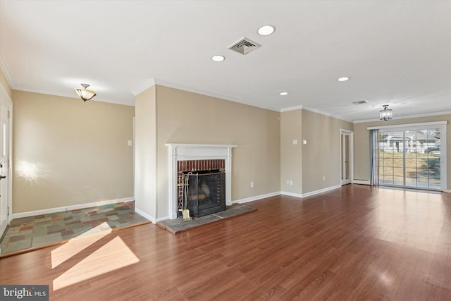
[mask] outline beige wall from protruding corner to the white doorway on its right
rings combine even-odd
[[[302,193],[341,184],[340,129],[352,130],[347,121],[302,110]],[[323,180],[326,177],[326,180]]]

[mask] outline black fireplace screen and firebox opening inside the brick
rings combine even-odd
[[[184,206],[199,217],[226,210],[226,173],[221,170],[183,173]]]

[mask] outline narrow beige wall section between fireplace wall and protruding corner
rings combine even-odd
[[[297,145],[293,145],[297,140]],[[288,184],[287,184],[288,181]],[[292,185],[290,185],[292,181]],[[302,110],[280,113],[280,190],[302,195]]]

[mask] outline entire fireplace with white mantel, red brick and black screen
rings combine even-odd
[[[167,144],[169,147],[169,216],[181,210],[199,217],[231,205],[232,148],[236,145]]]

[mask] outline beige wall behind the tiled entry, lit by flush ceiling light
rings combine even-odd
[[[13,90],[13,213],[133,196],[134,108]]]

